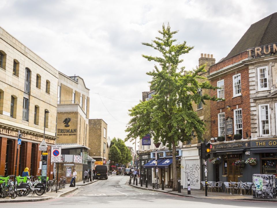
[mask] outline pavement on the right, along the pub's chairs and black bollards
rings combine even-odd
[[[130,180],[130,179],[129,179]],[[127,181],[129,185],[129,180]],[[135,183],[136,184],[136,183]],[[172,191],[172,188],[164,188],[162,190],[162,187],[159,189],[153,189],[152,185],[148,184],[148,187],[145,187],[145,184],[141,187],[139,181],[138,185],[133,185],[133,180],[131,184],[129,185],[134,188],[143,189],[143,190],[151,190],[155,192],[162,192],[177,196],[184,196],[184,197],[192,197],[192,198],[203,198],[203,199],[223,199],[223,200],[250,200],[250,201],[263,201],[263,202],[277,202],[277,199],[262,199],[262,198],[253,198],[252,195],[240,195],[240,194],[230,194],[227,192],[207,192],[207,196],[205,196],[205,190],[198,190],[198,189],[191,189],[190,194],[188,194],[188,189],[181,189],[181,193],[178,193],[178,191]]]

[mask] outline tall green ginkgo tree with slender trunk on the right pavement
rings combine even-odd
[[[155,95],[149,101],[140,102],[129,110],[130,121],[127,124],[126,141],[133,141],[135,138],[142,139],[150,134],[154,143],[162,142],[173,151],[173,191],[178,190],[177,167],[176,167],[176,146],[178,141],[191,140],[191,133],[194,131],[197,137],[202,140],[201,135],[205,131],[205,124],[192,108],[192,103],[205,100],[218,100],[208,94],[199,94],[199,89],[216,90],[208,80],[200,76],[205,72],[205,65],[196,67],[191,71],[185,71],[185,67],[179,67],[183,62],[180,56],[189,53],[193,47],[187,46],[186,42],[174,44],[177,40],[173,35],[178,31],[171,31],[170,25],[162,25],[158,31],[162,37],[156,37],[151,43],[142,43],[158,52],[161,57],[142,55],[148,61],[158,63],[152,71],[146,74],[152,77],[149,82],[151,90]]]

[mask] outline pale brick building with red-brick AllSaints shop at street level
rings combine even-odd
[[[0,27],[0,175],[15,173],[18,130],[17,174],[25,167],[40,174],[39,144],[55,144],[58,71]],[[48,174],[50,168],[48,157]]]

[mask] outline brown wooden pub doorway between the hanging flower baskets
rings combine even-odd
[[[236,160],[242,160],[242,154],[224,155],[224,164],[227,163],[228,181],[238,182],[239,177],[242,177],[242,168],[233,165]]]

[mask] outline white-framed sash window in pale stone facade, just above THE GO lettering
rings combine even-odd
[[[259,105],[260,135],[270,135],[269,104]]]

